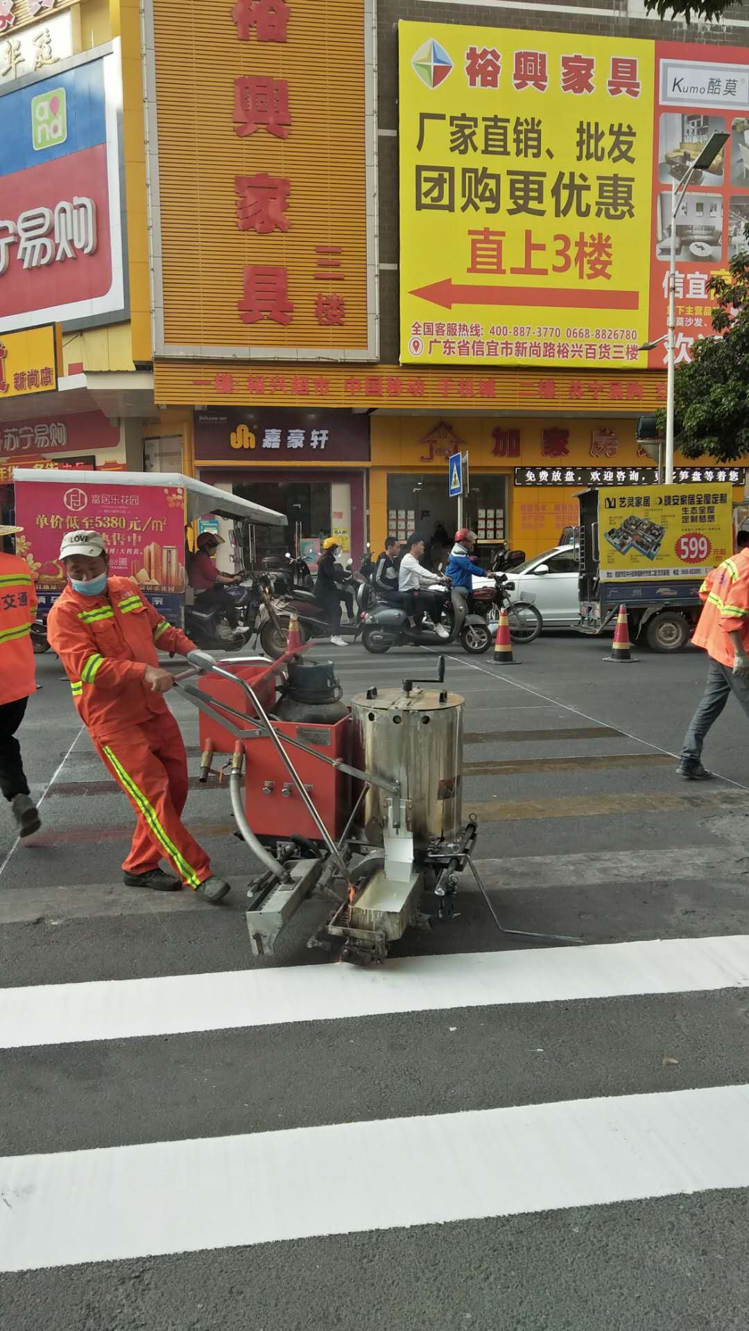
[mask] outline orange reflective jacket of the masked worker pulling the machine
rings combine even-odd
[[[144,684],[156,648],[185,656],[193,650],[145,600],[131,578],[109,578],[100,596],[68,584],[47,619],[47,636],[71,681],[80,717],[99,740],[168,711],[160,693]]]

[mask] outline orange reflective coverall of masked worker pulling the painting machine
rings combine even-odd
[[[100,596],[65,587],[49,611],[47,636],[100,757],[137,813],[123,869],[148,873],[164,856],[183,882],[200,886],[211,862],[180,820],[185,747],[163,696],[144,684],[145,667],[159,664],[157,646],[184,656],[195,644],[129,578],[109,578]]]

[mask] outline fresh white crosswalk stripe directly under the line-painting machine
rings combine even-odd
[[[749,936],[0,990],[0,1047],[749,986]]]

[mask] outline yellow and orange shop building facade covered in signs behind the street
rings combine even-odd
[[[21,49],[47,51],[28,5],[15,0]],[[53,87],[21,69],[12,93],[0,75],[0,98],[60,120],[60,89],[72,108],[113,56],[120,109],[105,100],[85,142],[31,142],[8,173],[44,165],[55,186],[61,160],[108,164],[104,202],[76,194],[88,212],[53,189],[0,208],[15,274],[0,337],[45,327],[57,355],[55,385],[29,362],[23,401],[0,394],[0,467],[185,470],[284,507],[289,540],[340,534],[353,558],[412,520],[426,536],[454,526],[453,445],[470,522],[528,554],[600,471],[650,478],[634,427],[664,405],[665,371],[662,350],[638,347],[665,330],[670,184],[718,129],[728,144],[677,224],[680,361],[709,333],[709,277],[749,217],[741,11],[686,28],[641,0],[352,0],[344,15],[145,0],[141,40],[135,4],[57,9],[85,21]],[[93,205],[112,213],[96,249]],[[19,260],[33,206],[52,220]],[[84,264],[71,307],[65,274]]]

